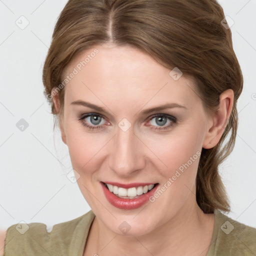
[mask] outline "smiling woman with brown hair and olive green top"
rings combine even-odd
[[[219,211],[243,84],[223,20],[215,0],[67,2],[44,93],[91,210],[10,226],[4,255],[255,254],[256,229]]]

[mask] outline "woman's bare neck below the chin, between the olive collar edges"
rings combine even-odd
[[[118,235],[95,216],[90,231],[91,255],[111,255],[113,251],[116,255],[169,255],[171,251],[172,255],[205,256],[213,235],[214,214],[203,213],[195,198],[187,201],[189,204],[169,221],[141,236]]]

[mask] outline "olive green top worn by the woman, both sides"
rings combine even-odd
[[[256,228],[214,210],[215,222],[206,256],[256,256]],[[55,224],[47,232],[43,223],[18,223],[7,229],[3,256],[82,256],[92,210],[75,219]],[[111,256],[111,255],[110,255]]]

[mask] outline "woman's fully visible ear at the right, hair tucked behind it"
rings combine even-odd
[[[209,117],[209,126],[202,144],[203,148],[211,148],[220,140],[232,111],[233,98],[234,93],[232,89],[227,89],[219,95],[219,107]]]

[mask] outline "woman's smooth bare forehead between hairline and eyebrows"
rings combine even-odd
[[[184,75],[174,80],[170,71],[129,45],[95,46],[80,52],[68,64],[65,75],[74,75],[65,85],[65,98],[70,102],[97,97],[97,102],[104,98],[108,103],[121,100],[129,105],[161,100],[191,107],[198,101],[194,81]]]

